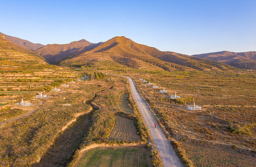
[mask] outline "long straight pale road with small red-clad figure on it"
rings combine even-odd
[[[122,76],[122,75],[119,75],[119,76]],[[163,133],[163,130],[158,125],[154,115],[151,113],[149,106],[146,104],[145,100],[136,89],[134,81],[127,76],[123,76],[123,77],[126,77],[129,80],[131,93],[133,95],[134,100],[136,101],[136,103],[140,108],[140,112],[144,119],[144,122],[148,127],[150,135],[156,146],[156,149],[160,154],[163,167],[183,167],[180,159],[177,157],[173,149],[173,146],[170,144],[170,141],[166,138],[165,134]],[[156,129],[154,128],[154,123],[157,124]]]

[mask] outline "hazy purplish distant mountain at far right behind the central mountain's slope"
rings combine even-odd
[[[226,63],[237,68],[256,70],[256,52],[211,52],[192,55],[221,63]]]

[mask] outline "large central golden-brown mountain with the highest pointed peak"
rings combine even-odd
[[[101,43],[94,49],[70,56],[60,64],[81,64],[109,60],[134,68],[157,66],[166,71],[172,69],[193,70],[233,70],[234,68],[215,61],[195,58],[175,52],[162,52],[156,48],[142,45],[122,36]]]

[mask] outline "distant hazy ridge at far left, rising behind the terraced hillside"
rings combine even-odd
[[[1,32],[0,32],[0,35],[3,35],[5,39],[11,41],[15,45],[18,45],[20,47],[23,47],[23,48],[26,48],[26,49],[29,49],[29,50],[32,50],[32,51],[45,46],[45,45],[40,44],[40,43],[32,43],[32,42],[29,42],[27,40],[23,40],[23,39],[20,39],[20,38],[17,38],[17,37],[12,37],[12,36],[6,35],[6,34],[1,33]]]

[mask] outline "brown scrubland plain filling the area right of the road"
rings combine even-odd
[[[145,78],[159,89],[145,86]],[[152,110],[195,166],[255,166],[255,74],[150,74],[134,77]],[[166,94],[159,93],[165,88]],[[170,95],[181,96],[169,99]],[[187,110],[187,105],[202,110]]]

